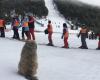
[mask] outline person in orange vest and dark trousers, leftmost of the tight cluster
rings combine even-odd
[[[20,21],[18,19],[18,16],[15,16],[13,18],[13,21],[12,21],[12,29],[13,29],[13,32],[14,32],[13,38],[18,39],[18,40],[20,40],[19,33],[18,33],[19,25],[20,25]]]

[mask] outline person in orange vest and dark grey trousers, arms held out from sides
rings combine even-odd
[[[88,29],[85,25],[82,25],[82,28],[80,30],[80,33],[78,34],[78,37],[80,37],[80,35],[81,35],[82,45],[79,48],[88,49],[87,44],[86,44],[86,38],[88,37]]]

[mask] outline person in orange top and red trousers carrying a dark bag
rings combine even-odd
[[[49,40],[49,43],[47,45],[53,46],[53,42],[52,42],[53,27],[50,20],[48,21],[47,31],[48,31],[48,40]]]

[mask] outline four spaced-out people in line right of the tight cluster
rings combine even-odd
[[[62,48],[69,48],[68,45],[68,37],[69,37],[69,32],[68,32],[68,27],[66,23],[63,23],[63,34],[62,34],[62,39],[64,40],[64,46]],[[78,34],[78,37],[81,36],[81,46],[79,48],[81,49],[88,49],[87,43],[86,43],[86,38],[88,38],[88,32],[89,29],[86,27],[86,25],[82,25],[81,30]],[[53,34],[53,26],[51,24],[51,21],[48,21],[47,29],[45,30],[45,34],[48,34],[48,41],[49,43],[47,45],[49,46],[54,46],[53,41],[52,41],[52,34]],[[99,37],[98,41],[98,47],[96,49],[100,50],[100,34],[97,34],[96,36]]]

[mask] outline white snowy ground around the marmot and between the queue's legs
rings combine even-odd
[[[98,40],[87,40],[89,50],[63,49],[47,44],[47,35],[35,33],[38,44],[39,80],[100,80],[100,51],[95,50]],[[6,36],[11,37],[12,32]],[[63,46],[61,34],[53,34],[54,45]],[[70,47],[79,47],[76,34],[69,36]],[[21,49],[24,42],[0,38],[0,80],[26,80],[17,74]]]

